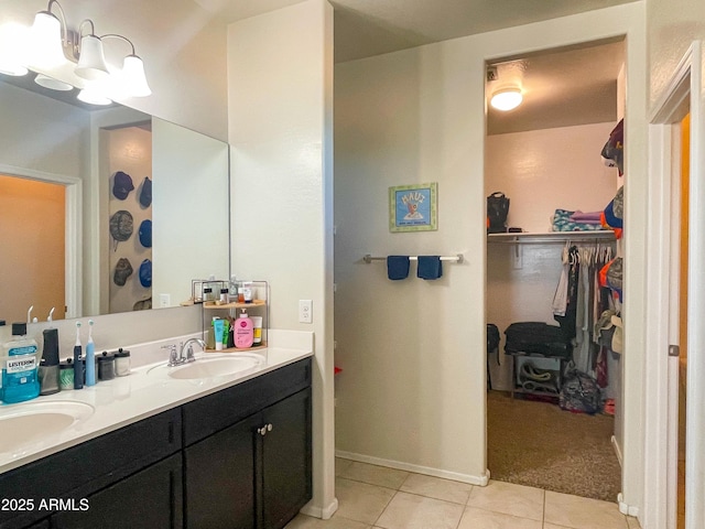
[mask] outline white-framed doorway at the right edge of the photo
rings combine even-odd
[[[670,79],[665,95],[655,107],[650,126],[650,165],[651,185],[659,188],[650,201],[653,217],[652,237],[654,251],[663,248],[664,258],[653,259],[649,284],[660,303],[652,311],[653,321],[649,323],[650,369],[646,377],[646,435],[650,440],[646,447],[647,462],[644,479],[644,518],[647,527],[675,528],[679,523],[685,529],[699,529],[705,523],[703,497],[705,476],[703,467],[704,439],[703,421],[705,391],[701,382],[705,330],[699,322],[705,317],[703,295],[705,284],[696,267],[688,266],[686,274],[687,302],[681,296],[684,288],[682,264],[696,263],[705,258],[705,244],[701,234],[705,222],[705,212],[699,207],[704,196],[703,150],[705,137],[703,123],[702,86],[702,46],[695,41],[683,56]],[[683,118],[690,114],[690,125]],[[688,130],[688,145],[682,145],[682,131]],[[681,195],[685,177],[682,163],[687,152],[687,195]],[[685,212],[680,212],[683,201],[687,201],[687,237],[681,237]],[[685,209],[685,208],[684,208]],[[686,242],[686,240],[687,242]],[[683,245],[687,245],[686,257]],[[685,421],[682,418],[683,406],[679,396],[681,382],[679,375],[684,364],[677,356],[677,345],[682,332],[686,332],[686,380]],[[684,344],[681,342],[680,344]],[[668,355],[665,354],[668,350]],[[666,425],[664,429],[663,425]],[[682,432],[685,430],[685,439]],[[684,452],[683,457],[679,452]],[[681,465],[679,465],[681,463]],[[679,466],[683,468],[679,472]],[[679,481],[684,487],[679,492]],[[665,492],[665,498],[664,494]],[[664,500],[665,499],[665,500]],[[679,508],[679,506],[681,508]],[[684,508],[683,508],[684,507]],[[684,519],[679,516],[684,511]]]

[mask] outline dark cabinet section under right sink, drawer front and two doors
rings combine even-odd
[[[310,370],[303,360],[264,378],[257,388],[259,411],[225,428],[224,417],[239,418],[231,402],[254,387],[236,386],[184,406],[185,439],[221,428],[184,450],[188,529],[280,529],[311,499]]]

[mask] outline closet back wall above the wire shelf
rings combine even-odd
[[[615,196],[617,170],[601,160],[617,122],[487,137],[485,193],[510,198],[508,226],[551,231],[555,209],[603,210]]]

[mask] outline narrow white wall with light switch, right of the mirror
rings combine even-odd
[[[333,8],[308,0],[228,33],[232,270],[271,285],[271,326],[315,333],[314,498],[335,511],[333,443]],[[313,300],[313,325],[299,300]]]

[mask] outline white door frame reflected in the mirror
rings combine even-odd
[[[83,181],[77,176],[48,173],[33,169],[18,168],[0,163],[0,173],[19,179],[59,184],[66,187],[64,214],[65,239],[65,303],[66,320],[83,315]]]

